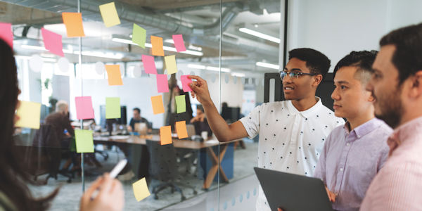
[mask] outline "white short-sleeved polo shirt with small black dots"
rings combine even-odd
[[[298,111],[291,101],[263,103],[240,121],[250,139],[260,135],[258,167],[308,177],[314,175],[328,134],[345,124],[322,105],[321,98],[304,111]],[[256,207],[271,211],[261,187]]]

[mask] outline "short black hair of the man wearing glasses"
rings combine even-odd
[[[292,58],[298,58],[306,62],[306,67],[309,68],[311,73],[316,75],[322,75],[324,79],[328,69],[331,66],[331,60],[328,59],[324,53],[316,51],[314,49],[302,48],[302,49],[293,49],[288,51],[288,60]]]

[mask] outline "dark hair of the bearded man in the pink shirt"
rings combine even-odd
[[[386,34],[380,46],[392,44],[395,52],[391,62],[399,70],[399,84],[422,70],[422,23],[409,25]]]

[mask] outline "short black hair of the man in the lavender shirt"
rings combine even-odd
[[[340,68],[343,67],[357,67],[357,72],[368,72],[372,73],[372,64],[373,61],[376,58],[376,54],[378,51],[352,51],[349,54],[347,54],[345,57],[340,59],[335,65],[333,77],[335,77],[335,74],[337,73]],[[369,78],[366,78],[366,81],[369,81]]]

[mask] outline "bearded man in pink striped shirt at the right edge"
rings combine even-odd
[[[390,32],[380,45],[366,89],[376,116],[395,130],[361,210],[422,210],[422,23]]]

